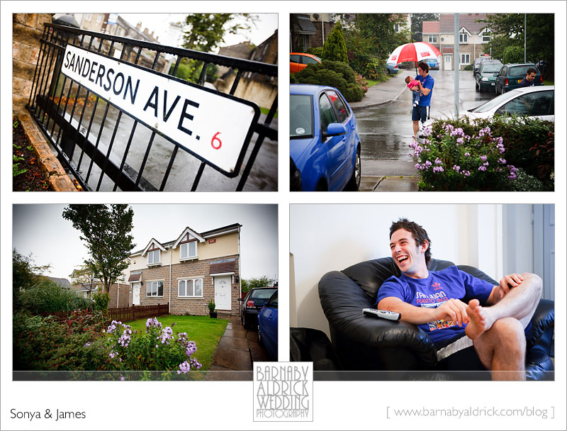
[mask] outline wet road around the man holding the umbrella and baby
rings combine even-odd
[[[412,72],[413,73],[413,72]],[[408,71],[400,71],[400,91],[405,86],[403,78]],[[435,80],[432,95],[431,117],[454,116],[454,72],[432,70]],[[470,71],[459,72],[459,112],[474,108],[493,99],[494,93],[475,91],[475,81]],[[386,105],[356,111],[363,159],[408,160],[408,145],[412,140],[412,97],[409,90]]]

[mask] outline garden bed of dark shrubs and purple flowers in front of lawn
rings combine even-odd
[[[186,332],[174,334],[157,318],[148,319],[145,334],[121,322],[102,325],[103,313],[79,311],[65,320],[13,315],[15,371],[169,371],[187,374],[201,369],[196,343]],[[125,374],[125,373],[124,373]],[[113,376],[113,374],[110,374]],[[96,376],[96,375],[95,375]],[[115,376],[118,378],[118,376]],[[158,378],[168,378],[159,374]]]

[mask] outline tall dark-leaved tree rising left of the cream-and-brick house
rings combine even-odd
[[[128,256],[135,247],[130,235],[133,217],[134,211],[125,204],[72,204],[63,211],[63,218],[82,233],[80,238],[90,254],[84,264],[102,281],[103,293],[108,293],[111,284],[128,268]]]

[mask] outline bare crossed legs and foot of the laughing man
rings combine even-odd
[[[481,307],[473,299],[466,308],[470,321],[465,333],[483,365],[492,371],[493,380],[525,379],[524,328],[539,303],[542,283],[535,274],[522,277],[522,284],[494,306]]]

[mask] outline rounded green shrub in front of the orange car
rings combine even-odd
[[[291,74],[290,82],[334,86],[349,102],[362,100],[364,90],[356,82],[352,67],[343,62],[323,60],[321,64],[308,65],[301,72]]]

